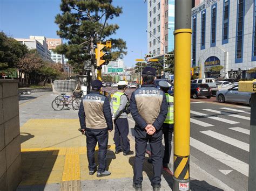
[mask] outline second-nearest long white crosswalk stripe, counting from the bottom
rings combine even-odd
[[[224,143],[236,146],[238,148],[241,148],[242,150],[245,150],[247,152],[249,152],[250,150],[250,145],[244,142],[241,142],[240,140],[237,139],[233,139],[231,137],[222,135],[220,133],[208,130],[208,131],[200,131],[201,133],[204,133],[207,136],[213,137],[215,139],[221,140]]]

